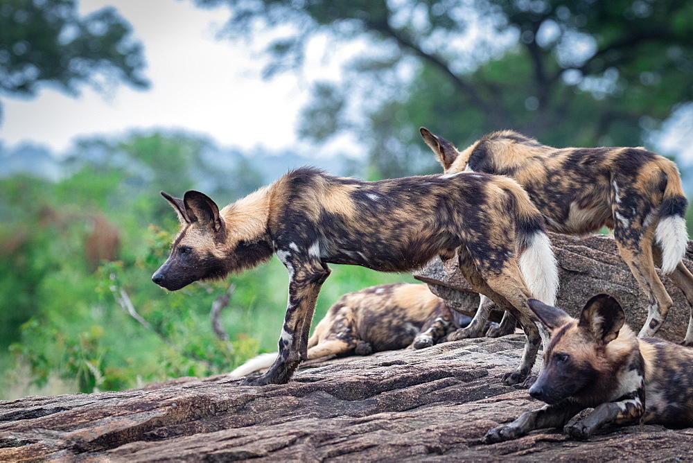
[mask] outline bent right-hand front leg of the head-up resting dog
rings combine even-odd
[[[565,426],[563,430],[573,439],[587,439],[607,423],[637,423],[644,413],[640,392],[629,394],[618,402],[597,405],[595,410],[576,423]]]

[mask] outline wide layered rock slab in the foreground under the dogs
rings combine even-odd
[[[0,402],[0,460],[674,461],[693,429],[626,426],[575,442],[559,430],[486,445],[540,403],[500,383],[522,335],[390,351],[299,370],[286,385],[223,376],[144,390]]]

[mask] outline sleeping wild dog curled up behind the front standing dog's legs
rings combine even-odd
[[[425,284],[371,286],[340,297],[315,326],[308,340],[308,360],[412,347],[423,349],[443,340],[471,319],[451,311]],[[229,373],[247,376],[267,368],[277,353],[262,353]]]

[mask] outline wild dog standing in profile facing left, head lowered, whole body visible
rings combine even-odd
[[[534,365],[541,336],[527,299],[553,303],[558,272],[541,213],[514,180],[459,173],[363,182],[299,168],[221,211],[198,191],[182,200],[162,194],[182,229],[152,276],[159,286],[222,278],[273,253],[289,272],[279,356],[245,384],[286,383],[306,359],[328,263],[407,272],[455,250],[471,286],[511,311],[527,335],[518,369],[503,381],[520,383]]]

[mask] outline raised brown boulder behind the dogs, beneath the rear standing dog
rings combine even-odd
[[[633,274],[618,254],[613,236],[577,238],[552,233],[549,236],[559,261],[561,278],[556,305],[577,317],[590,297],[606,292],[618,299],[626,309],[626,322],[631,328],[636,332],[640,330],[647,319],[647,302]],[[683,263],[693,270],[693,241],[688,241]],[[466,315],[473,315],[478,306],[478,296],[456,270],[453,261],[444,264],[440,259],[435,259],[426,268],[414,273],[414,277],[428,283],[432,292],[446,299],[448,306]],[[657,336],[681,342],[690,319],[690,305],[669,277],[663,276],[659,270],[657,272],[674,299],[674,306],[669,310]],[[500,320],[500,314],[494,315],[493,321]]]

